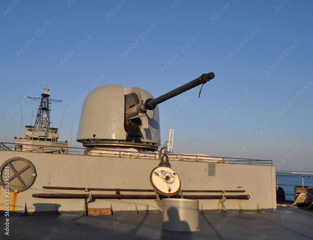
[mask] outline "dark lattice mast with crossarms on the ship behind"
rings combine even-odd
[[[38,105],[37,109],[37,116],[36,116],[36,121],[34,125],[34,132],[46,132],[49,133],[51,132],[50,130],[50,104],[54,102],[62,102],[62,100],[54,100],[49,98],[50,93],[49,93],[49,88],[47,88],[48,84],[46,85],[46,88],[44,89],[44,93],[41,94],[40,97],[29,97],[35,101],[40,100],[40,104]]]

